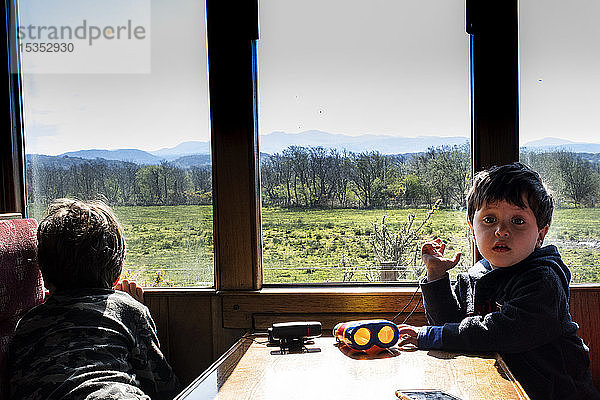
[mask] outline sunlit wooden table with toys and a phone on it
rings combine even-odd
[[[398,389],[442,389],[463,400],[529,399],[496,354],[394,348],[376,356],[349,351],[332,337],[272,354],[265,336],[240,339],[176,399],[397,399]]]

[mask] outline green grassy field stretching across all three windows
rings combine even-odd
[[[115,207],[128,244],[127,274],[148,286],[212,285],[211,206]],[[263,209],[263,262],[266,283],[378,281],[371,244],[373,224],[382,217],[398,230],[409,214],[415,223],[426,209],[289,210]],[[437,210],[422,240],[440,237],[448,254],[471,259],[464,211]],[[561,249],[575,282],[600,281],[600,208],[559,209],[546,239]],[[417,262],[400,279],[413,280]]]

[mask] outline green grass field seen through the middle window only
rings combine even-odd
[[[397,231],[415,213],[415,225],[428,210],[263,210],[263,262],[265,282],[340,282],[354,272],[352,281],[379,280],[371,235],[383,216]],[[423,230],[448,243],[448,251],[465,253],[467,227],[463,213],[438,210]],[[415,243],[416,245],[417,243]],[[409,274],[409,278],[413,274]]]

